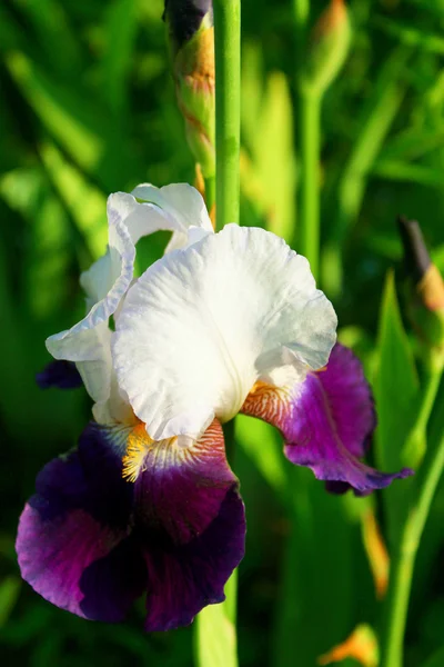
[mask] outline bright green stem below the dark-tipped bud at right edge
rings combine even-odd
[[[436,398],[442,370],[432,370],[424,390],[415,428],[426,428]],[[417,548],[432,500],[444,468],[444,438],[434,451],[427,452],[415,482],[413,500],[392,556],[389,594],[385,605],[381,667],[403,666],[403,645],[413,570]]]

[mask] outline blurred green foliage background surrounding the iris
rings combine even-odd
[[[311,4],[314,21],[325,2]],[[40,391],[34,376],[49,360],[46,337],[83,312],[78,276],[104,251],[107,196],[142,181],[194,181],[162,10],[162,0],[0,2],[2,665],[192,664],[191,628],[143,635],[142,604],[118,627],[56,609],[20,581],[13,549],[36,474],[89,419],[82,390]],[[351,51],[322,113],[320,281],[372,379],[384,277],[401,257],[397,213],[421,221],[444,269],[444,1],[351,0],[350,11]],[[293,7],[243,0],[242,12],[241,222],[297,247]],[[142,243],[140,267],[163,242]],[[244,418],[236,432],[249,521],[240,663],[311,667],[357,624],[376,624],[362,517],[376,509],[384,525],[381,498],[331,497],[284,460],[266,426]],[[425,665],[443,641],[443,525],[444,487],[420,549],[408,667]]]

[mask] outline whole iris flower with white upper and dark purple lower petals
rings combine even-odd
[[[222,601],[244,555],[221,427],[238,412],[276,426],[286,457],[332,490],[410,471],[360,460],[371,390],[304,257],[262,229],[214,233],[186,185],[111,195],[108,219],[108,251],[81,277],[87,316],[47,340],[58,361],[40,377],[68,387],[80,374],[93,420],[39,474],[17,550],[58,607],[120,621],[145,594],[145,629],[168,630]],[[135,245],[157,229],[173,232],[165,255],[135,278]]]

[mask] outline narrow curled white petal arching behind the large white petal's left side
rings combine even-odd
[[[152,190],[159,192],[157,188]],[[128,412],[128,402],[120,396],[113,378],[108,321],[117,313],[133,279],[135,243],[142,236],[159,229],[175,232],[169,247],[193,243],[208,233],[199,227],[202,220],[206,223],[206,209],[196,190],[185,185],[163,190],[164,209],[155,203],[139,203],[125,192],[115,192],[108,198],[108,251],[80,278],[87,293],[88,313],[71,329],[47,340],[47,348],[56,359],[75,361],[85,388],[97,404],[94,417],[101,424]],[[178,211],[176,206],[184,212]],[[184,222],[193,210],[198,227],[196,223],[189,225],[188,219]],[[211,228],[211,222],[209,225]]]

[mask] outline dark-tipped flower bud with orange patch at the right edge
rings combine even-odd
[[[415,220],[398,218],[407,276],[408,315],[430,349],[444,356],[444,280],[432,262]]]

